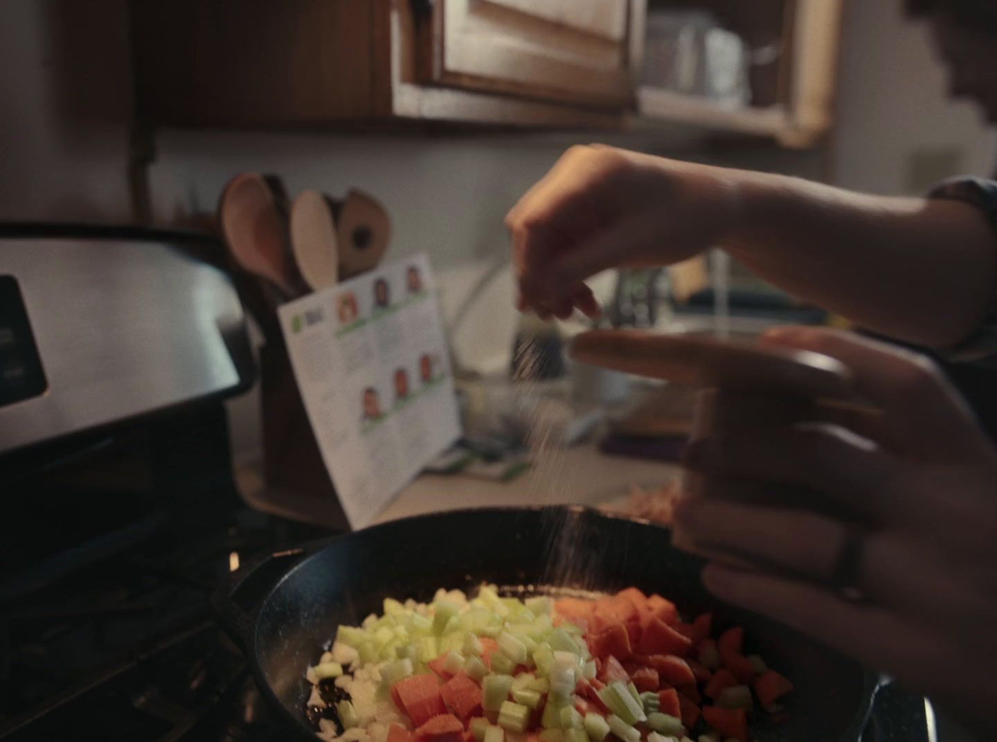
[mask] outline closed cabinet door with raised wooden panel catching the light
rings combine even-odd
[[[644,0],[436,0],[424,84],[622,108],[633,98]]]

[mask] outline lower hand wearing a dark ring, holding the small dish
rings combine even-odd
[[[840,359],[882,414],[694,444],[687,466],[729,483],[722,489],[732,497],[790,486],[848,514],[681,501],[677,533],[714,558],[703,572],[707,588],[889,673],[992,734],[994,447],[922,357],[816,328],[782,329],[767,341]],[[725,565],[728,556],[757,568]],[[828,586],[842,578],[863,599]]]

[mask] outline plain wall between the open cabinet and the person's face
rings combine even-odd
[[[919,190],[911,158],[935,154],[942,176],[991,174],[992,131],[967,103],[945,97],[944,71],[923,23],[903,0],[849,0],[831,173],[838,185],[878,193]],[[946,161],[952,167],[946,168]]]

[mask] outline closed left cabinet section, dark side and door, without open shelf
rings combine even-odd
[[[140,111],[170,126],[619,128],[641,3],[133,0]]]

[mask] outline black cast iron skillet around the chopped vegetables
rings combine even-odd
[[[551,554],[562,556],[554,566]],[[263,565],[279,572],[275,583],[262,577]],[[301,739],[315,739],[304,715],[305,669],[337,625],[380,612],[388,596],[426,600],[438,587],[488,580],[606,591],[636,585],[669,597],[683,612],[712,610],[715,626],[743,625],[746,651],[759,651],[796,684],[790,720],[756,723],[755,740],[855,742],[875,676],[785,626],[718,603],[700,584],[701,565],[671,548],[668,531],[642,521],[583,508],[457,511],[267,556],[233,574],[212,603],[263,697]]]

